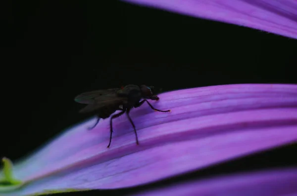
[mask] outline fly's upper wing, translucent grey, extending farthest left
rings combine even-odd
[[[81,103],[81,104],[94,104],[95,99],[99,98],[100,96],[106,96],[110,94],[116,94],[120,88],[111,88],[106,90],[94,90],[89,92],[84,92],[74,98],[74,101]],[[112,97],[112,96],[111,96]]]

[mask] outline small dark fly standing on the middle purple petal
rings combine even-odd
[[[141,101],[141,99],[143,99]],[[126,113],[130,123],[132,124],[136,136],[136,144],[139,144],[135,125],[129,116],[132,108],[138,108],[143,103],[147,102],[149,107],[158,112],[170,112],[170,110],[158,110],[154,108],[147,99],[158,101],[159,97],[154,93],[153,86],[146,85],[133,85],[129,84],[122,88],[112,88],[106,90],[95,90],[90,92],[82,93],[75,97],[74,101],[82,104],[88,104],[85,108],[80,110],[80,113],[94,113],[96,114],[97,121],[94,126],[90,127],[93,129],[99,122],[100,118],[109,118],[115,111],[121,111],[118,114],[112,115],[110,123],[110,138],[107,148],[109,148],[112,138],[112,119],[120,117]]]

